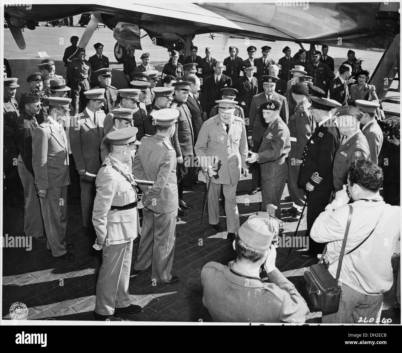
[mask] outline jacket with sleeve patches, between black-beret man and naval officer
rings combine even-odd
[[[287,124],[287,127],[289,127],[291,142],[289,156],[299,160],[303,158],[304,148],[314,132],[314,121],[310,111],[308,110],[310,105],[311,104],[308,102],[307,98],[304,98],[303,101],[299,102],[289,119],[289,124]]]

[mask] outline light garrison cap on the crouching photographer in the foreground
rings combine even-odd
[[[254,250],[269,249],[274,235],[275,228],[269,219],[258,215],[250,215],[238,230],[240,240]]]

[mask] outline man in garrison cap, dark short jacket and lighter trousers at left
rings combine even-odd
[[[24,233],[25,236],[31,236],[34,241],[44,242],[46,238],[43,236],[41,205],[35,189],[35,174],[32,167],[32,134],[38,126],[35,115],[41,109],[41,101],[37,94],[28,92],[21,97],[21,103],[23,111],[15,123],[14,140],[17,150],[20,151],[17,168],[24,187]]]

